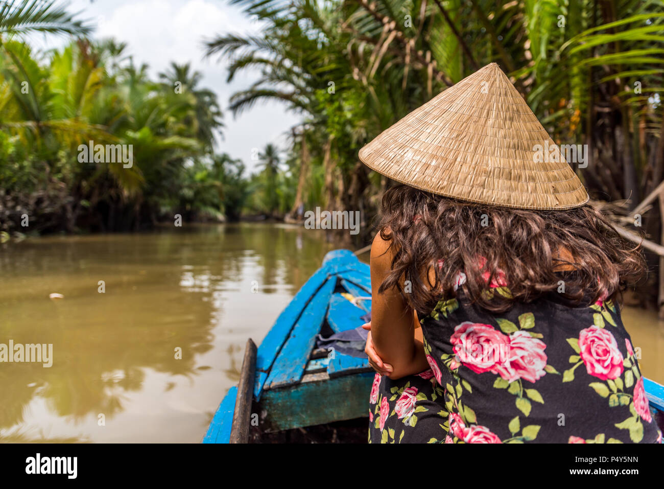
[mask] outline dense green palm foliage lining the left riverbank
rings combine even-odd
[[[48,232],[138,229],[177,211],[189,219],[238,212],[241,163],[230,161],[228,175],[215,169],[227,159],[212,155],[221,112],[199,88],[200,74],[173,64],[155,82],[124,50],[80,40],[42,56],[20,41],[0,45],[2,229],[16,229],[23,213],[31,231]],[[91,141],[131,147],[131,165],[86,161],[81,149]],[[236,187],[229,199],[224,178]]]

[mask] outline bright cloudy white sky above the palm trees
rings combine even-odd
[[[236,75],[226,83],[226,62],[219,58],[203,58],[204,39],[224,33],[258,33],[260,25],[248,18],[228,0],[72,0],[68,11],[80,12],[78,18],[96,27],[92,37],[113,37],[127,43],[127,54],[135,64],[146,63],[155,77],[169,66],[190,62],[203,74],[201,87],[216,92],[224,111],[224,139],[218,151],[240,158],[252,171],[252,151],[272,142],[284,147],[289,128],[299,116],[286,111],[278,102],[258,102],[233,118],[228,110],[230,96],[258,78],[258,72]],[[33,39],[36,47],[62,47],[68,39],[48,35]]]

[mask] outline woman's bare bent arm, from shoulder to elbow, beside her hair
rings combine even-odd
[[[376,353],[392,366],[390,379],[419,373],[428,368],[421,329],[416,332],[414,311],[394,288],[378,293],[390,272],[389,243],[376,234],[371,246],[371,336]],[[419,333],[420,338],[416,338]]]

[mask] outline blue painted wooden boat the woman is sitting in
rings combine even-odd
[[[369,266],[350,250],[329,252],[258,350],[249,340],[240,383],[221,401],[203,442],[260,442],[270,434],[343,426],[339,423],[344,421],[347,429],[338,433],[366,440],[374,377],[367,359],[316,349],[315,340],[321,332],[327,336],[363,324],[370,296]],[[645,378],[644,386],[661,425],[664,386]],[[336,437],[337,428],[334,433]]]

